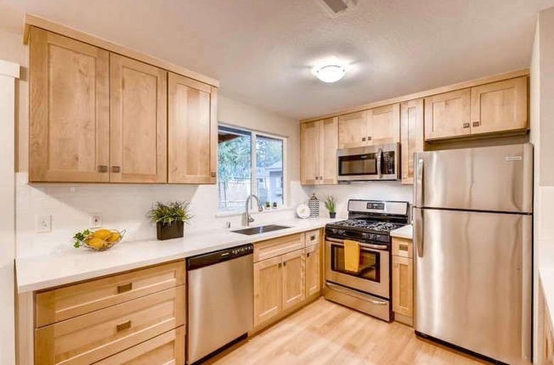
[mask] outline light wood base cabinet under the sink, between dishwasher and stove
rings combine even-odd
[[[319,230],[254,244],[254,330],[265,327],[320,293]],[[301,242],[298,249],[295,241]],[[304,247],[305,241],[310,246]],[[283,250],[296,248],[283,253]],[[278,254],[277,254],[278,253]],[[273,255],[273,257],[267,258]]]

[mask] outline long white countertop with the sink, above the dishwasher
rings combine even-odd
[[[210,251],[228,249],[264,239],[286,236],[310,229],[325,227],[328,222],[340,220],[329,218],[293,219],[272,222],[288,226],[288,229],[246,236],[225,229],[195,231],[180,239],[158,241],[121,241],[108,251],[90,249],[67,250],[47,256],[16,258],[18,293],[51,288],[80,280],[119,273],[143,266],[155,265],[179,258],[206,254]],[[237,228],[240,229],[241,227]]]

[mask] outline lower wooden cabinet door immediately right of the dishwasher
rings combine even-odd
[[[283,310],[282,257],[254,263],[254,327]]]

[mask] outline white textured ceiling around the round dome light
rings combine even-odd
[[[297,119],[528,67],[537,12],[554,0],[358,0],[330,18],[316,0],[0,0],[22,13],[183,65],[221,92]],[[311,75],[348,62],[336,84]]]

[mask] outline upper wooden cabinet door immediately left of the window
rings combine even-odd
[[[168,90],[168,182],[214,184],[216,89],[170,72]]]

